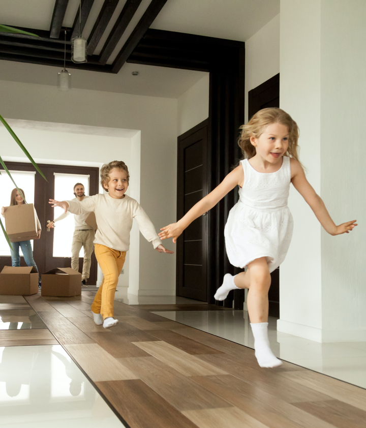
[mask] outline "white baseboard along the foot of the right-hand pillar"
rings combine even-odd
[[[277,320],[277,331],[320,343],[366,342],[366,329],[325,330],[295,322]]]

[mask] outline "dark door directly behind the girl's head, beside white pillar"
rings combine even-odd
[[[262,108],[280,107],[280,74],[249,91],[248,117]],[[280,268],[271,273],[271,286],[268,292],[269,315],[280,317]]]

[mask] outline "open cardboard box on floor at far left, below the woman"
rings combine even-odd
[[[38,272],[34,266],[4,266],[0,272],[0,294],[29,296],[38,293]]]

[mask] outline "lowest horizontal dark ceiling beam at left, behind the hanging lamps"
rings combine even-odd
[[[70,56],[69,56],[70,58]],[[43,66],[52,66],[52,67],[59,67],[64,68],[64,59],[51,59],[51,58],[37,58],[33,56],[27,56],[27,55],[16,55],[13,53],[8,52],[0,52],[0,59],[4,59],[7,61],[15,61],[17,63],[29,63],[29,64],[40,64]],[[83,63],[83,64],[75,64],[71,60],[66,63],[67,69],[78,69],[78,70],[88,70],[88,71],[98,71],[102,73],[112,73],[112,67],[111,66],[101,66],[97,63],[97,60],[94,64]]]

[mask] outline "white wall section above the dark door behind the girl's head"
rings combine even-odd
[[[245,121],[248,92],[280,72],[280,15],[246,41]]]

